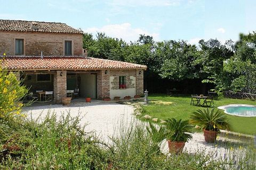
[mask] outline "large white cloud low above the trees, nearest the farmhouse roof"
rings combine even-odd
[[[93,33],[93,35],[95,35],[95,33],[97,32],[105,32],[107,36],[122,38],[127,43],[129,43],[130,41],[138,40],[140,34],[153,36],[154,40],[159,40],[158,33],[150,33],[147,30],[141,28],[132,28],[132,25],[130,23],[104,25],[101,28],[92,27],[87,28],[83,31]]]

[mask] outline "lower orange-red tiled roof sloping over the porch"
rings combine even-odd
[[[1,56],[8,70],[147,69],[146,65],[83,56]]]

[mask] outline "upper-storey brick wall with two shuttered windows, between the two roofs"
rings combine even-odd
[[[0,31],[0,55],[14,54],[15,39],[24,39],[25,55],[64,55],[64,41],[72,40],[73,55],[82,55],[83,36],[72,33]]]

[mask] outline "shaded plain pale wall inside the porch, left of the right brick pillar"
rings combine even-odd
[[[90,73],[80,74],[81,84],[79,93],[81,97],[96,98],[96,75]]]

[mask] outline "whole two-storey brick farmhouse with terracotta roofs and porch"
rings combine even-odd
[[[87,57],[83,32],[57,22],[0,20],[0,57],[29,91],[53,91],[54,103],[74,89],[79,97],[94,99],[142,94],[147,69]]]

